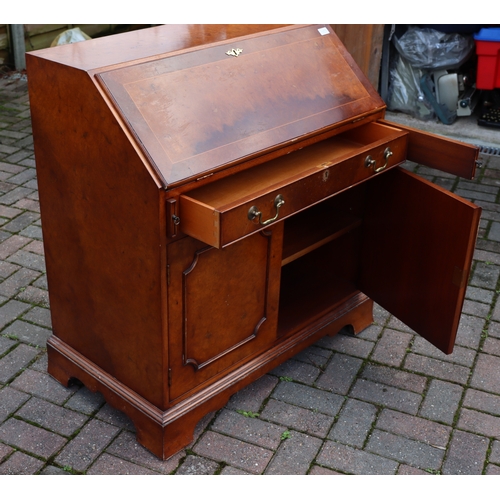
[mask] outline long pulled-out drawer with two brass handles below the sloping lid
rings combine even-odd
[[[368,123],[180,197],[180,229],[223,248],[406,160],[407,132]]]

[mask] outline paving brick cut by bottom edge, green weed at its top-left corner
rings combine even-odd
[[[291,432],[269,463],[267,475],[303,475],[311,467],[311,463],[321,448],[321,439]]]

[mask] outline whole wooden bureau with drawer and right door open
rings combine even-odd
[[[173,25],[27,54],[48,371],[161,458],[372,300],[453,349],[480,208],[473,146],[384,120],[328,25]]]

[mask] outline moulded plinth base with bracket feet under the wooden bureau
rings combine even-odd
[[[100,392],[107,403],[132,420],[137,441],[165,460],[188,446],[199,420],[222,408],[235,392],[325,335],[335,335],[347,325],[359,333],[373,322],[372,311],[371,299],[358,293],[320,320],[165,411],[54,335],[47,342],[48,372],[65,386],[76,378],[89,390]]]

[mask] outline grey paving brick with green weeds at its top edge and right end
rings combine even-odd
[[[234,411],[222,410],[211,429],[247,443],[275,450],[281,443],[286,427],[251,418]]]

